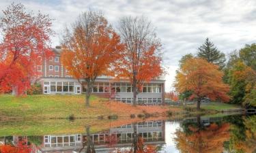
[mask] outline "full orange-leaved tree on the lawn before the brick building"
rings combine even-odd
[[[113,75],[111,65],[123,50],[119,35],[106,18],[98,12],[85,12],[70,28],[66,28],[61,42],[61,62],[70,75],[86,82],[86,105],[96,78]]]

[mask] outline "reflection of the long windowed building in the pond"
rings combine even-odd
[[[112,147],[132,146],[132,133],[134,130],[141,134],[145,144],[165,143],[165,121],[140,122],[138,124],[128,124],[111,128],[109,131],[101,133],[91,133],[90,137],[96,150],[109,150]],[[38,152],[55,152],[80,150],[83,142],[86,143],[87,135],[44,135],[42,145]]]

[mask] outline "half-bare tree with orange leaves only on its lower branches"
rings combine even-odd
[[[133,104],[145,82],[160,76],[161,44],[154,27],[144,17],[125,17],[119,21],[119,33],[125,45],[117,63],[117,76],[128,78],[132,84]]]

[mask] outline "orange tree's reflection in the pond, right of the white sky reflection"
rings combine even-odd
[[[229,139],[229,124],[212,123],[203,126],[200,117],[197,123],[186,122],[186,128],[176,131],[175,143],[182,153],[221,153],[223,143]],[[185,127],[185,126],[182,126]]]

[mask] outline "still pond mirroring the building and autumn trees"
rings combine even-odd
[[[144,120],[119,126],[113,121],[106,123],[108,128],[97,132],[95,129],[100,129],[99,125],[75,121],[70,124],[74,125],[70,133],[57,127],[56,133],[40,129],[40,135],[26,135],[25,130],[20,130],[18,135],[4,135],[2,131],[0,143],[12,144],[27,152],[47,153],[86,152],[87,148],[100,153],[130,152],[134,148],[168,153],[256,152],[256,116],[216,114],[175,120]],[[82,131],[77,124],[83,124]]]

